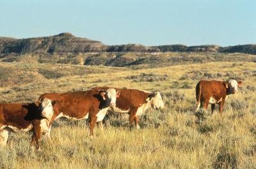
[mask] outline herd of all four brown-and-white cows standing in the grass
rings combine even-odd
[[[220,114],[227,96],[237,92],[241,81],[206,81],[196,85],[197,108],[207,109],[211,103],[220,105]],[[89,91],[45,93],[36,103],[0,103],[0,145],[6,146],[8,131],[29,131],[33,129],[31,146],[40,149],[41,133],[50,136],[52,122],[60,117],[70,120],[88,119],[89,136],[93,136],[96,122],[102,126],[109,108],[115,112],[129,114],[129,126],[138,121],[147,108],[164,108],[160,92],[146,92],[138,89],[94,87]],[[1,148],[1,147],[0,147]]]

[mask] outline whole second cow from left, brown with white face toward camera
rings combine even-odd
[[[65,117],[68,120],[88,119],[90,122],[89,136],[93,136],[93,128],[95,122],[102,121],[108,111],[109,106],[115,107],[116,97],[118,93],[115,89],[106,91],[79,91],[79,92],[64,92],[64,93],[45,93],[40,96],[38,101],[49,98],[56,101],[53,110],[49,108],[45,110],[53,111],[53,116],[49,124],[50,135],[51,124],[54,120]],[[44,112],[42,112],[44,114]]]

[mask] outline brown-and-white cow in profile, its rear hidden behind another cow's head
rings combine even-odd
[[[103,90],[109,89],[109,87],[93,87],[92,89]],[[113,110],[115,112],[129,114],[130,128],[132,127],[133,121],[135,121],[136,129],[140,128],[138,124],[139,116],[144,114],[149,107],[164,108],[160,92],[145,92],[138,89],[116,90],[120,91],[120,96],[116,99],[116,107],[113,107]]]

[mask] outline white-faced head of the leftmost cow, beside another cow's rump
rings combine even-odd
[[[53,106],[55,105],[56,101],[51,101],[51,99],[44,98],[38,103],[38,108],[42,117],[47,118],[50,120],[53,115]]]

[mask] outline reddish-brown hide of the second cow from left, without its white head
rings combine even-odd
[[[93,128],[97,121],[97,114],[102,108],[108,107],[106,100],[102,98],[103,91],[79,91],[64,93],[45,93],[40,96],[38,101],[44,98],[56,101],[53,106],[54,115],[50,126],[59,114],[67,115],[76,119],[82,119],[87,114],[90,122],[90,136],[93,135]],[[50,127],[49,126],[49,127]]]

